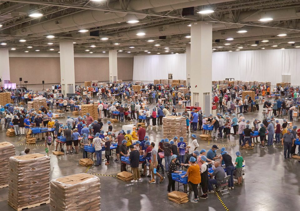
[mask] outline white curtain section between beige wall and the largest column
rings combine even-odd
[[[134,56],[133,80],[168,79],[169,73],[186,80],[186,54]]]

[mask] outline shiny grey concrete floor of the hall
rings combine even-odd
[[[152,107],[150,106],[150,108]],[[179,109],[179,112],[182,110]],[[261,119],[260,112],[247,113],[245,118],[251,122],[254,118]],[[67,112],[66,116],[68,115],[71,116],[72,114]],[[65,123],[65,119],[59,119],[59,121]],[[107,119],[103,119],[103,123],[107,121]],[[113,130],[121,129],[123,124],[128,123],[113,123]],[[300,125],[298,122],[293,124]],[[104,124],[103,128],[104,130],[107,129],[107,124]],[[162,128],[147,129],[150,141],[156,144],[161,140],[162,132]],[[199,135],[200,132],[196,132],[196,134]],[[191,142],[190,135],[191,133],[188,134],[189,143]],[[7,137],[5,131],[0,131],[0,138],[2,141],[14,144],[17,155],[25,148],[24,145],[16,144],[23,137]],[[200,148],[206,150],[210,149],[213,144],[217,144],[219,148],[224,146],[227,152],[232,155],[232,160],[235,160],[235,152],[239,150],[237,137],[231,137],[230,140],[218,139],[210,143],[199,138],[197,140]],[[25,143],[25,140],[21,143]],[[44,143],[37,144],[43,145]],[[45,153],[43,146],[27,147],[31,149],[30,153]],[[217,153],[220,153],[220,149]],[[254,150],[251,151],[241,150],[241,155],[246,160],[245,183],[241,187],[236,186],[234,190],[230,190],[231,195],[221,196],[229,210],[294,210],[300,207],[300,189],[298,185],[300,181],[299,176],[297,176],[300,174],[300,163],[294,159],[285,161],[283,159],[283,147],[259,148],[255,146]],[[79,165],[78,160],[80,158],[82,158],[82,153],[63,156],[51,155],[50,179],[84,173],[87,168]],[[91,167],[87,173],[116,175],[118,172],[120,172],[119,164],[111,161],[111,165],[105,166],[103,162],[101,167]],[[148,178],[142,178],[142,181],[138,183],[123,182],[109,176],[99,176],[99,178],[101,181],[101,210],[149,211],[172,209],[182,211],[183,209],[195,210],[197,208],[210,211],[224,210],[216,194],[212,193],[208,193],[208,198],[206,200],[200,199],[198,203],[176,204],[171,202],[167,198],[167,177],[162,184],[148,184]],[[14,210],[8,205],[7,200],[8,188],[0,189],[1,210]],[[30,210],[50,210],[50,208],[47,204]]]

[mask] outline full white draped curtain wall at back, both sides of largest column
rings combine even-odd
[[[186,54],[135,56],[133,80],[186,79]],[[242,81],[282,82],[300,85],[300,49],[234,51],[212,53],[212,80],[235,78]]]

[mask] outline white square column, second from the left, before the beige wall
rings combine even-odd
[[[75,69],[74,69],[74,46],[72,40],[61,40],[59,42],[60,51],[60,80],[62,93],[75,92]]]

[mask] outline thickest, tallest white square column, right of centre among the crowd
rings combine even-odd
[[[191,27],[191,105],[212,111],[212,23],[195,22]]]

